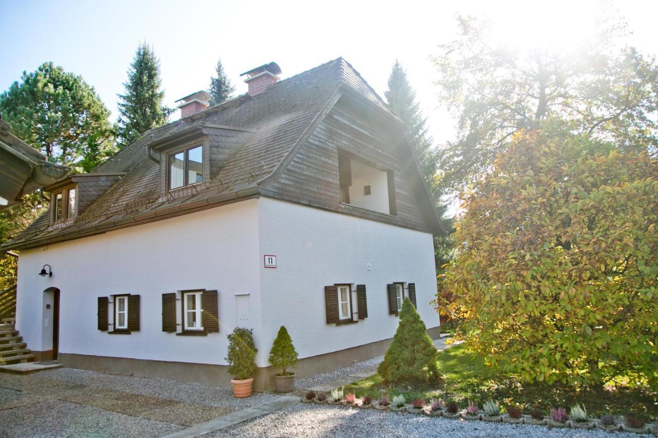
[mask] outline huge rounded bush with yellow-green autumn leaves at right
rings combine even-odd
[[[530,382],[658,389],[658,160],[551,126],[512,143],[453,234],[457,337]]]

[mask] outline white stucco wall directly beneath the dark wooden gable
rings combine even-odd
[[[268,351],[285,325],[300,358],[393,337],[398,318],[388,313],[386,285],[416,283],[417,305],[427,328],[439,325],[429,302],[436,294],[432,235],[274,199],[259,199],[263,339]],[[370,263],[370,270],[367,264]],[[368,318],[326,324],[324,286],[365,284]]]

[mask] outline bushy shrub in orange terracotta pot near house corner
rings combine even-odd
[[[236,327],[233,333],[228,335],[228,374],[233,376],[234,397],[242,398],[251,396],[253,391],[253,376],[258,369],[256,366],[256,344],[253,341],[253,331]]]

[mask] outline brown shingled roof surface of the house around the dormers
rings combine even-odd
[[[95,172],[125,172],[125,176],[93,201],[83,214],[52,225],[49,214],[43,214],[2,249],[37,247],[257,195],[259,184],[276,174],[314,120],[345,89],[395,118],[349,62],[334,59],[276,82],[266,93],[255,97],[241,95],[193,117],[145,132],[97,166]],[[179,191],[177,197],[161,195],[160,165],[149,158],[149,145],[206,125],[231,126],[255,133],[211,181]]]

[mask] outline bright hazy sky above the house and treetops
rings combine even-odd
[[[658,2],[612,2],[634,34],[629,43],[658,53]],[[161,60],[165,103],[207,89],[221,57],[237,92],[240,73],[276,61],[282,78],[342,56],[380,95],[395,59],[407,68],[437,142],[455,122],[438,108],[428,55],[455,37],[455,14],[492,18],[495,37],[519,45],[569,45],[594,26],[595,1],[14,1],[0,0],[0,91],[45,61],[82,75],[116,120],[116,94],[139,41]]]

